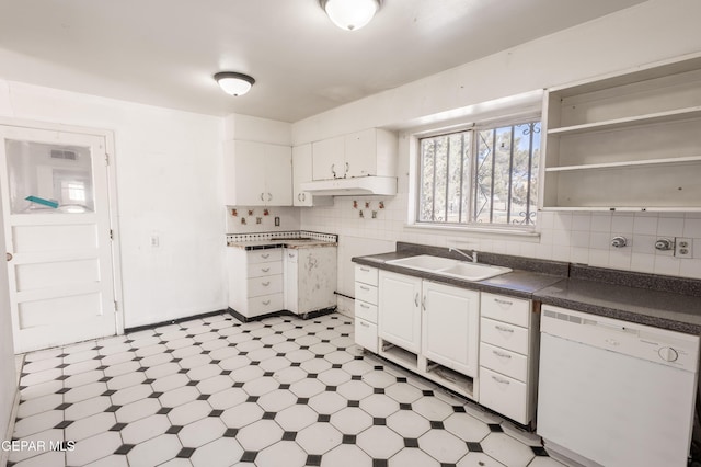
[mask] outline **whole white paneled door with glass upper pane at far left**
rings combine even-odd
[[[15,353],[115,334],[105,137],[0,125]]]

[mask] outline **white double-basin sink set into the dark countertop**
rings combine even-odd
[[[417,257],[390,260],[387,264],[395,264],[398,266],[425,271],[449,277],[463,278],[466,281],[482,281],[512,272],[508,267],[469,263],[467,261],[452,260],[450,258],[432,257],[430,254],[420,254]]]

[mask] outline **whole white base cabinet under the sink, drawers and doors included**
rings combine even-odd
[[[540,321],[530,300],[361,265],[355,280],[356,343],[518,423],[533,422]]]

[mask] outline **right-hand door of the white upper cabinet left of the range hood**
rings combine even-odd
[[[265,205],[292,205],[292,148],[265,146]]]

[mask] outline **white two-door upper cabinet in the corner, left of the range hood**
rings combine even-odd
[[[291,206],[292,149],[246,140],[223,144],[225,204]]]

